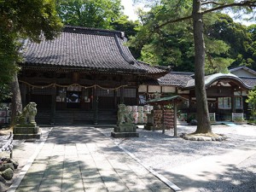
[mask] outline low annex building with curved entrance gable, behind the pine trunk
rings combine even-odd
[[[215,73],[205,77],[207,102],[212,120],[234,120],[234,115],[243,119],[250,116],[247,92],[256,86],[256,72],[248,67],[230,69],[230,73]],[[157,80],[140,85],[139,94],[148,100],[158,91],[161,96],[178,95],[188,99],[178,106],[180,119],[195,119],[194,73],[170,72]],[[147,91],[146,91],[147,90]],[[148,91],[149,90],[149,91]],[[152,91],[151,91],[152,90]]]

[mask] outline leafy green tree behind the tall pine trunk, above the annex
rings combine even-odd
[[[152,20],[157,22],[154,25],[160,25],[156,20],[158,13],[163,12],[166,4],[159,4],[148,13],[143,13],[143,28],[149,27]],[[165,12],[165,11],[164,11]],[[218,14],[206,15],[204,17],[206,25],[204,32],[206,39],[206,73],[222,72],[227,73],[227,67],[234,61],[230,59],[230,44],[225,43],[223,39],[215,37],[214,24],[218,20]],[[148,25],[149,24],[149,25]],[[172,65],[173,70],[183,72],[194,72],[194,42],[193,28],[190,20],[179,25],[167,25],[161,27],[149,36],[148,32],[143,35],[145,30],[138,32],[137,37],[132,38],[130,47],[141,48],[140,60],[153,65],[168,66]],[[213,31],[213,32],[212,32]],[[149,37],[149,38],[148,38]],[[139,39],[144,38],[145,40]],[[142,43],[142,44],[141,44]]]

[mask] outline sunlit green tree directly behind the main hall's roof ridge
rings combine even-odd
[[[139,30],[140,23],[123,14],[120,0],[57,0],[56,6],[66,25],[118,30],[128,39]],[[132,55],[139,57],[140,49],[130,48]]]

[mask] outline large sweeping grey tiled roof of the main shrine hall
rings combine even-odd
[[[163,73],[135,60],[123,32],[66,26],[58,38],[28,41],[22,50],[26,67],[67,67],[119,73]]]

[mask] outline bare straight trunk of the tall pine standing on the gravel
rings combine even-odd
[[[205,87],[205,42],[203,37],[203,20],[201,0],[193,0],[193,32],[195,42],[195,96],[197,129],[195,133],[212,132],[207,106],[207,91]]]

